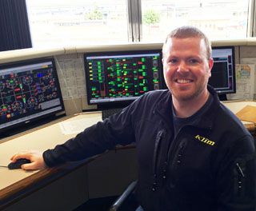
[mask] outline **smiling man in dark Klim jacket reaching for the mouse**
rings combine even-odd
[[[255,210],[254,139],[207,86],[210,42],[194,27],[171,32],[162,63],[169,90],[142,98],[55,149],[18,153],[39,169],[136,141],[144,210]]]

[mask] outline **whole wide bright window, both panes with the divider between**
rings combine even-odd
[[[252,0],[26,0],[34,47],[163,42],[182,25],[246,38]],[[254,11],[252,10],[252,14]]]

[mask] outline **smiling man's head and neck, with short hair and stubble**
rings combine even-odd
[[[209,96],[206,86],[214,63],[210,42],[201,31],[183,27],[168,35],[162,54],[164,76],[173,95],[174,108],[176,112],[182,109],[182,117],[188,117],[201,108]],[[189,109],[184,110],[187,106]]]

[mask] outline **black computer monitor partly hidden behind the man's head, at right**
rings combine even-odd
[[[214,66],[209,79],[221,100],[226,100],[226,94],[236,92],[234,46],[213,47],[212,58]]]

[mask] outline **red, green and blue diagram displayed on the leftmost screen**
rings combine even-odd
[[[35,70],[14,70],[0,75],[0,117],[45,109],[57,98],[57,87],[51,66]]]

